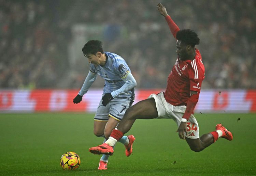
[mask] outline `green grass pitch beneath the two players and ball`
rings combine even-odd
[[[196,114],[200,135],[222,123],[233,141],[219,139],[200,153],[179,139],[170,119],[137,120],[127,134],[136,141],[125,156],[117,143],[108,170],[98,171],[99,155],[88,148],[102,143],[93,134],[94,114],[0,114],[0,175],[255,175],[256,114]],[[240,121],[238,121],[240,118]],[[59,160],[76,152],[81,166],[64,171]]]

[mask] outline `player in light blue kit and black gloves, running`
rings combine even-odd
[[[125,60],[117,54],[103,52],[101,41],[88,41],[82,51],[89,61],[90,71],[73,102],[82,101],[83,95],[87,93],[97,75],[105,80],[102,99],[94,117],[94,134],[97,137],[104,137],[104,143],[123,118],[125,111],[132,105],[134,87],[137,83]],[[127,157],[132,153],[134,140],[133,135],[124,136],[119,140],[125,145]],[[101,157],[99,170],[107,169],[108,159],[109,155]]]

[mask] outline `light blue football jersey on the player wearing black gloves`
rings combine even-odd
[[[90,64],[90,71],[98,74],[105,80],[103,93],[111,93],[117,89],[120,89],[125,82],[122,78],[125,78],[130,74],[130,68],[125,60],[119,55],[111,52],[104,52],[107,60],[106,64],[102,67],[100,65],[95,66]],[[134,95],[134,89],[119,95],[118,97],[131,97]]]

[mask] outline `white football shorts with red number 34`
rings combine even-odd
[[[171,118],[174,120],[174,122],[176,122],[178,127],[180,126],[182,116],[186,110],[186,106],[171,105],[166,101],[165,97],[163,96],[163,92],[160,92],[157,95],[151,94],[148,98],[154,98],[156,101],[156,108],[158,112],[157,118]],[[193,114],[191,114],[187,121],[187,132],[188,135],[185,134],[187,138],[199,138],[199,126]]]

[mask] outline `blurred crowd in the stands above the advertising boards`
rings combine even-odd
[[[89,65],[86,58],[70,64],[68,46],[76,23],[104,23],[103,50],[126,60],[138,88],[164,89],[177,58],[176,41],[157,3],[0,0],[1,89],[80,89]],[[256,89],[256,1],[161,3],[180,29],[190,28],[200,38],[203,89]],[[97,80],[93,87],[103,87]]]

